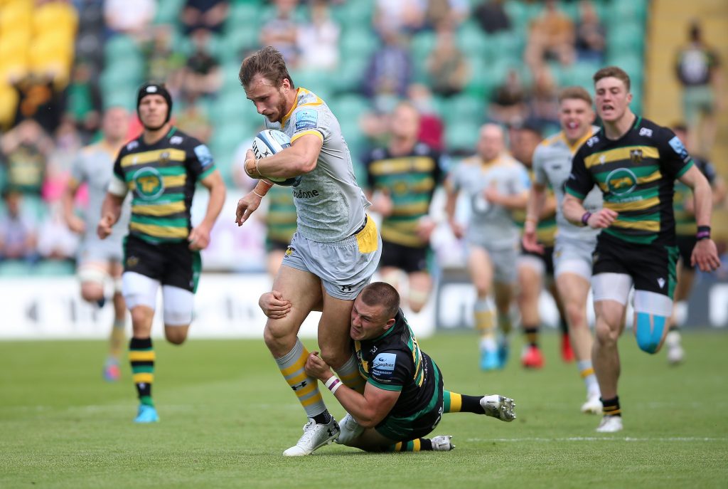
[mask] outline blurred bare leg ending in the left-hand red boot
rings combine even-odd
[[[544,357],[539,348],[539,295],[543,286],[545,266],[540,257],[522,254],[518,257],[518,310],[521,312],[526,345],[521,353],[521,364],[526,368],[543,367]]]

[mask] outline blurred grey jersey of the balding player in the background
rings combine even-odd
[[[518,195],[529,189],[526,167],[507,154],[483,165],[478,156],[462,160],[450,176],[456,191],[462,190],[470,203],[470,222],[466,239],[470,243],[487,245],[492,249],[513,248],[519,239],[518,226],[511,211],[488,203],[485,192],[495,185],[505,195]]]

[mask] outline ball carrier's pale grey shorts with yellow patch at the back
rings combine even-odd
[[[318,243],[298,232],[283,255],[282,265],[321,279],[331,297],[355,300],[379,265],[381,237],[373,219],[359,232],[334,243]]]

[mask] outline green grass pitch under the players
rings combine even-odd
[[[307,342],[309,347],[312,342]],[[262,341],[158,340],[154,399],[162,422],[135,426],[128,367],[100,380],[100,342],[0,343],[1,488],[724,488],[728,480],[728,335],[684,335],[687,362],[638,351],[625,334],[620,399],[625,430],[594,431],[582,415],[574,364],[544,337],[546,367],[515,358],[477,369],[475,337],[423,340],[446,387],[507,394],[518,419],[445,415],[450,453],[365,454],[330,445],[284,458],[305,421]],[[518,343],[518,342],[517,342]],[[520,344],[520,343],[519,343]],[[334,415],[343,410],[325,392]]]

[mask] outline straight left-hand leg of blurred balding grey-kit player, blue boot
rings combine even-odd
[[[475,286],[475,329],[480,333],[480,368],[500,368],[498,344],[496,343],[495,314],[488,302],[493,284],[493,265],[488,251],[481,246],[470,246],[467,269],[470,281]]]

